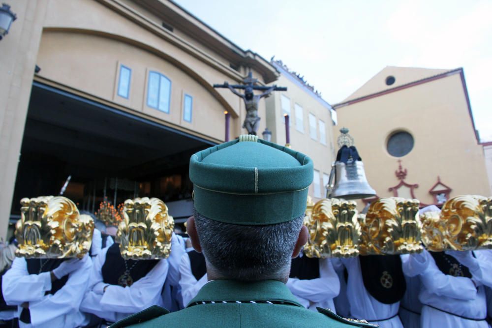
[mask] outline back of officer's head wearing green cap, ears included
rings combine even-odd
[[[313,164],[305,154],[242,135],[193,154],[193,246],[210,279],[286,281],[306,242],[302,228]]]

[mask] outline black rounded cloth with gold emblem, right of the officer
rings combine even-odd
[[[400,301],[406,291],[400,255],[359,256],[362,280],[369,294],[384,304]]]

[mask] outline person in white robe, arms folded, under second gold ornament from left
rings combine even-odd
[[[166,278],[177,279],[176,277],[179,277],[179,272],[176,273],[178,269],[171,269],[170,263],[176,262],[174,257],[182,254],[181,248],[182,246],[174,234],[171,254],[168,259],[125,261],[119,254],[119,244],[115,243],[104,248],[94,259],[89,288],[84,296],[81,310],[102,319],[100,324],[105,327],[105,325],[120,321],[152,305],[164,306],[162,298],[164,282]],[[110,252],[109,256],[108,251]],[[119,284],[122,280],[120,276],[122,272],[116,274],[120,276],[118,278],[114,276],[114,272],[111,272],[112,268],[105,267],[105,264],[106,261],[112,263],[113,261],[121,262],[121,260],[124,261],[129,275],[135,274],[132,267],[138,264],[139,267],[136,269],[140,270],[139,273],[142,277],[135,279],[131,284],[125,285],[124,282]],[[108,281],[115,283],[108,283]]]

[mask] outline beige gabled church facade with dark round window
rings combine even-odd
[[[388,66],[334,108],[378,197],[491,195],[461,68]]]

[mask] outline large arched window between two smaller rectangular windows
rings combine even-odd
[[[147,106],[169,114],[171,104],[171,80],[151,71],[147,88]]]

